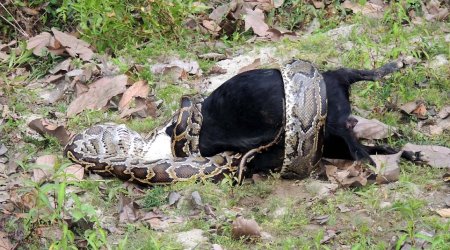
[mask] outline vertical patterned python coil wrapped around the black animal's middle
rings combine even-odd
[[[281,175],[305,178],[317,167],[327,116],[326,86],[311,63],[293,60],[281,68],[285,93],[285,150]]]

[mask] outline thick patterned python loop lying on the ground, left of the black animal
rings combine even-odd
[[[213,157],[191,156],[149,161],[144,158],[146,142],[124,125],[96,125],[74,136],[64,154],[87,171],[115,176],[142,185],[213,179],[233,175],[240,154],[224,152]]]

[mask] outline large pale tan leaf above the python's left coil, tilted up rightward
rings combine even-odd
[[[103,77],[89,85],[89,90],[81,94],[67,108],[67,116],[74,115],[86,109],[101,109],[108,104],[108,101],[126,90],[128,77],[118,75],[115,77]]]

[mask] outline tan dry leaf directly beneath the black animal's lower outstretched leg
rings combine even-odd
[[[397,154],[391,155],[371,155],[370,157],[375,161],[377,165],[377,178],[376,182],[378,184],[386,184],[398,181],[400,176],[400,157],[402,151]]]

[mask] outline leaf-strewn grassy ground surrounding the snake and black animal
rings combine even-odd
[[[186,1],[189,11],[183,1],[68,1],[74,10],[30,2],[0,9],[9,20],[0,41],[0,249],[448,249],[445,1]],[[397,155],[383,166],[390,179],[375,184],[346,182],[341,169],[343,179],[273,173],[239,186],[149,188],[84,173],[62,155],[94,124],[147,135],[181,95],[293,57],[321,71],[401,58],[399,72],[355,84],[353,113],[370,119],[359,124],[365,143],[422,151],[425,162]]]

